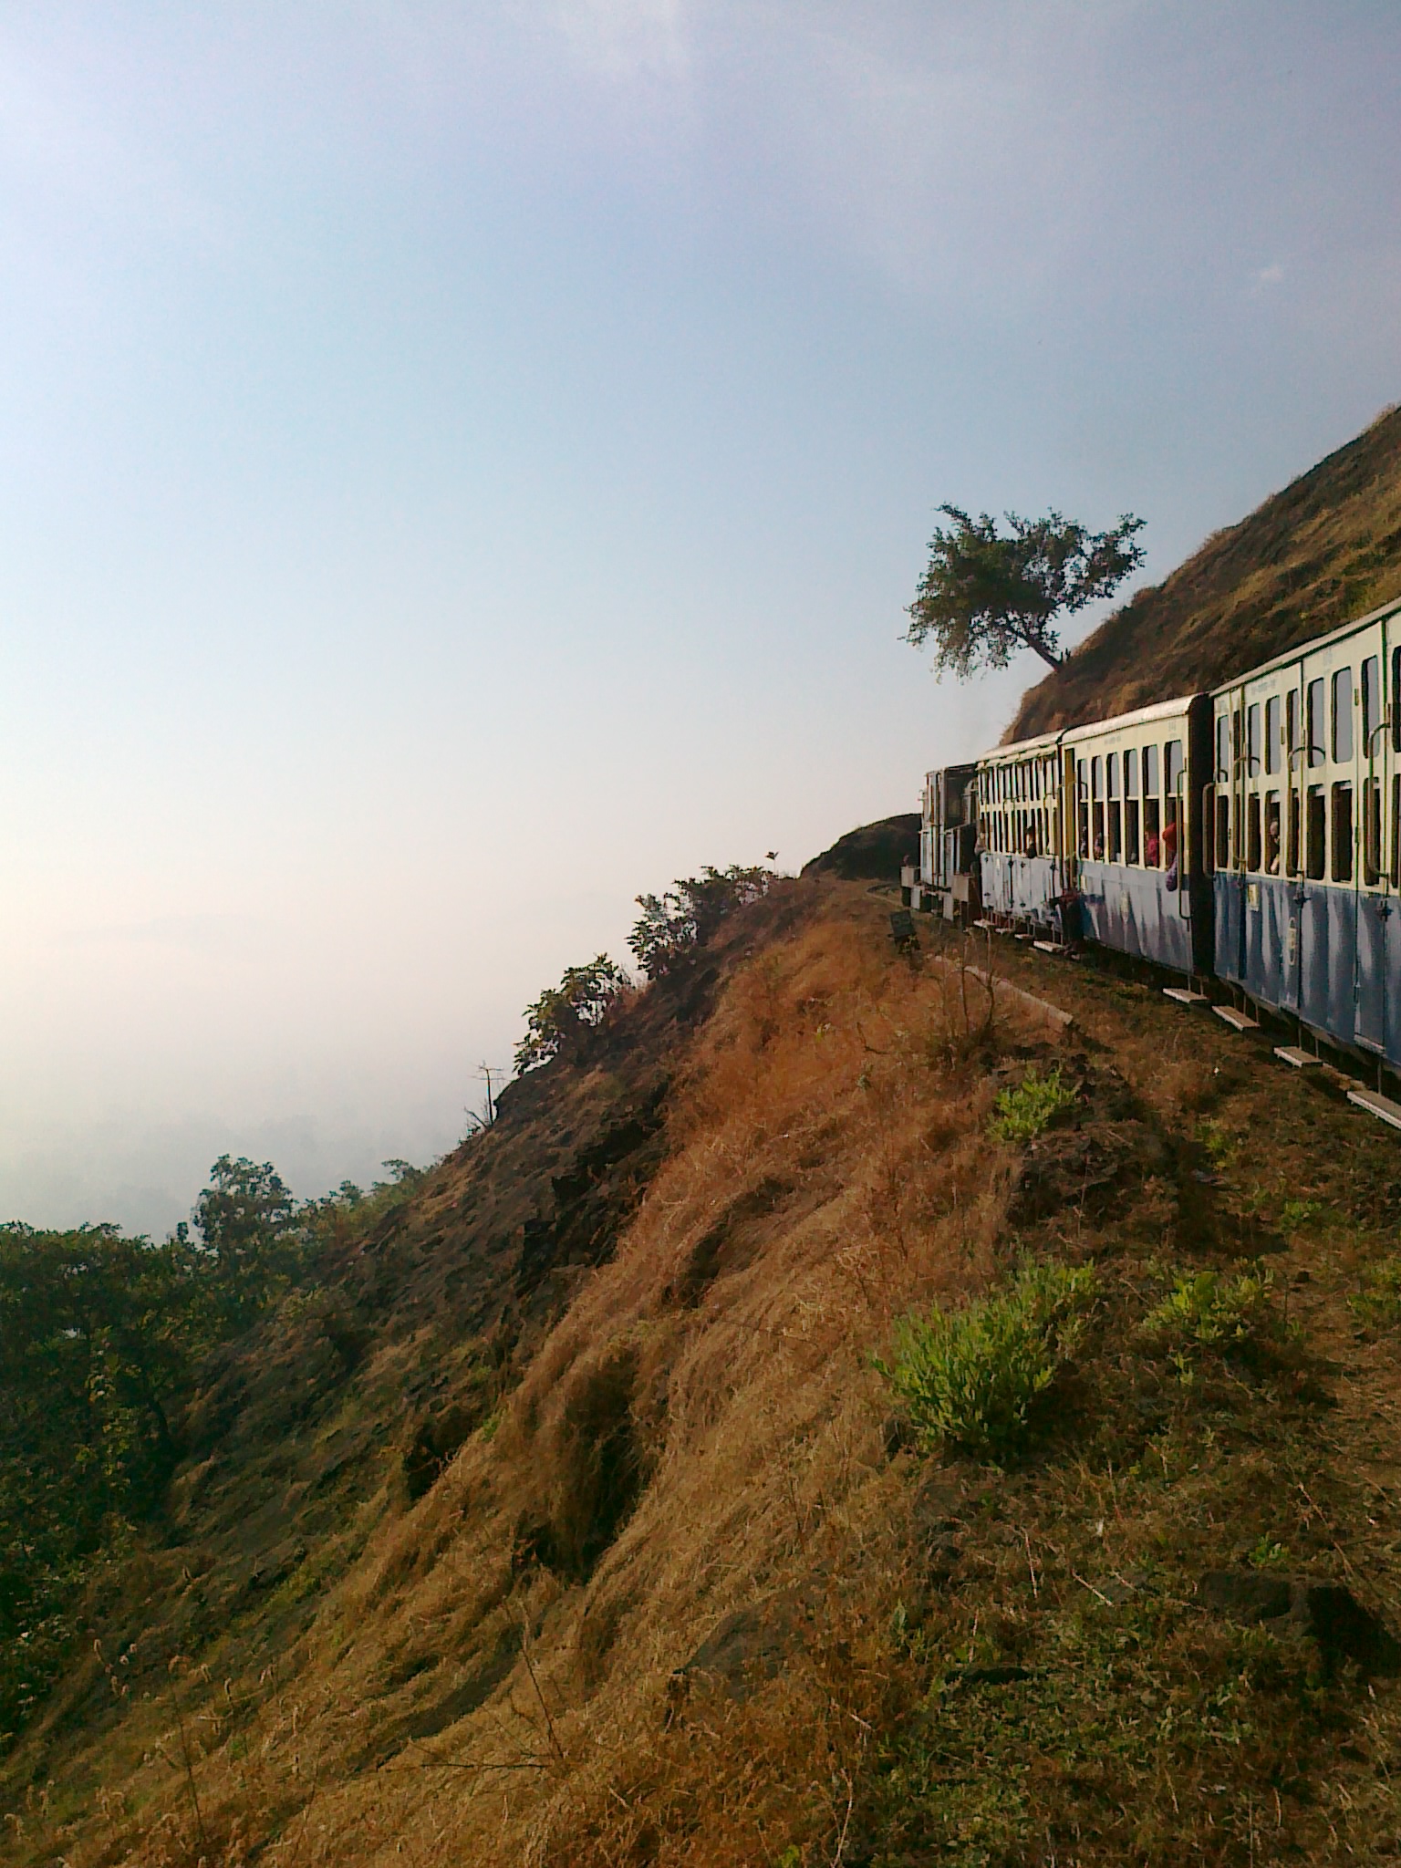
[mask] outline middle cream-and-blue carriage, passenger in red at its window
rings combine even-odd
[[[1201,790],[1210,773],[1210,697],[1070,727],[1061,743],[1074,796],[1082,934],[1186,975],[1209,973]]]

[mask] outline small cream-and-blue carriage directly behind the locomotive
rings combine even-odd
[[[1018,740],[977,762],[983,910],[1054,938],[1070,884],[1063,738]]]

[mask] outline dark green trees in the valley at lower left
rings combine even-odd
[[[163,1504],[200,1367],[308,1276],[344,1225],[420,1179],[297,1203],[271,1162],[220,1154],[163,1244],[116,1225],[0,1225],[0,1748],[69,1648],[92,1565]]]

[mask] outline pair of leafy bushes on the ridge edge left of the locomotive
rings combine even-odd
[[[768,893],[773,870],[706,863],[699,876],[672,882],[661,895],[639,895],[643,910],[628,936],[633,960],[646,979],[661,979],[704,947],[721,921]],[[570,966],[559,986],[547,986],[525,1007],[525,1037],[516,1046],[516,1068],[532,1070],[551,1057],[575,1054],[603,1024],[631,981],[605,953],[587,966]]]

